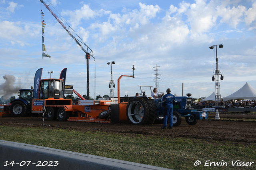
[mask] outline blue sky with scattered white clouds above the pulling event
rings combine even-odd
[[[246,82],[256,89],[256,0],[44,0],[74,37],[93,51],[89,59],[90,96],[110,96],[111,78],[120,79],[120,96],[135,96],[138,85],[158,92],[201,98],[215,92],[218,68],[221,97]],[[41,15],[41,10],[44,16]],[[42,57],[42,20],[44,53]],[[86,94],[84,51],[40,0],[0,0],[0,96],[30,88],[36,70],[42,79],[59,78]],[[223,44],[223,48],[212,45]],[[85,48],[85,47],[84,47]],[[156,65],[159,66],[156,68]],[[48,72],[53,71],[52,74]],[[182,89],[183,84],[183,89]],[[149,88],[144,89],[150,95]],[[76,96],[75,94],[73,94]]]

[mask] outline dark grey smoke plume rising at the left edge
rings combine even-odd
[[[5,74],[3,76],[5,82],[0,85],[0,96],[3,96],[4,99],[8,99],[14,94],[17,94],[17,88],[20,89],[20,86],[14,87],[15,77],[13,75]]]

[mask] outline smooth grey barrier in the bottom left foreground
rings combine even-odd
[[[1,170],[169,170],[90,154],[0,140]]]

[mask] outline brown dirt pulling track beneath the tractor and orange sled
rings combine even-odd
[[[208,117],[215,117],[209,114]],[[128,122],[118,124],[48,121],[44,119],[44,128],[72,129],[76,131],[101,131],[119,134],[143,134],[155,137],[184,137],[203,141],[232,141],[239,144],[256,145],[256,114],[220,114],[220,120],[200,120],[194,126],[188,125],[185,119],[173,129],[160,129],[162,124],[131,125]],[[222,120],[244,119],[244,120]],[[247,121],[246,119],[254,119]],[[43,127],[41,117],[2,117],[0,126]]]

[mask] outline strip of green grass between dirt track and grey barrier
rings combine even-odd
[[[39,145],[73,152],[104,156],[175,170],[208,170],[223,167],[204,166],[210,162],[227,162],[225,170],[256,169],[256,145],[212,142],[184,138],[168,139],[144,135],[118,135],[101,132],[78,132],[66,129],[0,127],[0,139]],[[194,166],[194,162],[202,162]],[[223,161],[222,161],[223,160]],[[231,161],[255,162],[236,167]]]

